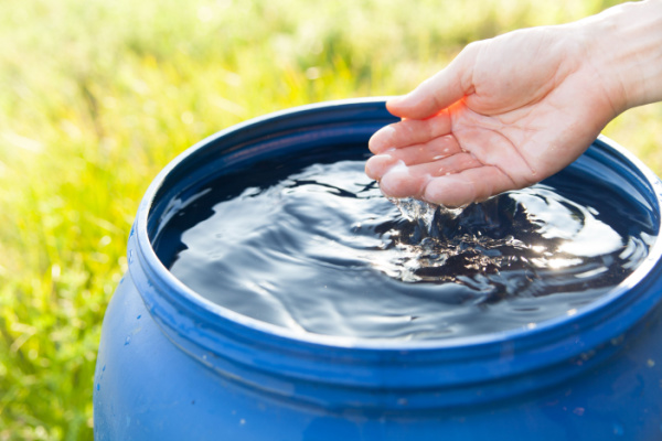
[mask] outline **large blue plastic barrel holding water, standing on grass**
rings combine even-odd
[[[295,334],[204,300],[154,254],[156,232],[220,172],[365,149],[393,121],[382,99],[295,108],[224,130],[157,176],[104,320],[96,440],[662,439],[659,240],[575,315],[437,341]],[[627,151],[599,138],[570,166],[613,181],[659,230],[662,184]]]

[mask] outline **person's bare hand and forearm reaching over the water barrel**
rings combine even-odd
[[[462,206],[577,159],[629,108],[662,100],[662,0],[469,44],[412,93],[365,165],[392,197]]]

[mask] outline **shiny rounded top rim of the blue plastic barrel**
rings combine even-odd
[[[660,243],[660,240],[655,240],[655,243],[651,246],[648,258],[627,279],[624,279],[620,284],[602,295],[600,299],[597,299],[578,309],[576,314],[573,316],[558,316],[549,319],[538,323],[534,329],[513,329],[476,336],[421,341],[391,341],[378,338],[369,340],[311,333],[296,333],[274,324],[242,315],[202,298],[193,290],[184,286],[172,273],[170,273],[170,271],[157,257],[153,248],[151,247],[151,240],[148,234],[148,218],[152,204],[154,203],[154,197],[172,171],[175,170],[175,168],[188,158],[195,154],[200,149],[204,148],[216,139],[220,139],[221,137],[236,133],[238,131],[249,129],[256,125],[263,125],[276,119],[296,118],[300,115],[323,112],[328,111],[329,109],[342,110],[343,108],[362,106],[372,106],[375,109],[383,108],[385,99],[386,97],[375,97],[327,101],[268,114],[222,130],[185,150],[157,175],[140,203],[136,223],[131,232],[135,247],[131,248],[131,245],[129,247],[129,256],[131,256],[132,252],[136,252],[139,256],[139,259],[131,259],[129,257],[129,268],[131,273],[148,272],[150,278],[156,280],[157,284],[160,284],[161,288],[167,287],[166,289],[159,290],[160,294],[163,294],[168,298],[166,301],[175,303],[177,310],[185,310],[189,313],[193,313],[197,320],[206,322],[212,327],[223,325],[234,329],[234,331],[237,329],[243,329],[243,331],[247,331],[248,334],[253,334],[256,340],[261,340],[263,344],[265,342],[280,342],[278,344],[287,342],[288,344],[303,345],[308,347],[324,347],[363,352],[412,353],[429,351],[452,352],[458,349],[466,352],[470,349],[472,353],[478,354],[482,353],[483,349],[487,349],[488,347],[492,347],[493,351],[485,351],[484,353],[493,354],[500,351],[500,347],[504,342],[519,342],[526,347],[532,347],[541,342],[549,341],[551,338],[555,340],[559,335],[576,333],[577,330],[586,329],[586,323],[595,323],[596,320],[615,314],[617,310],[622,312],[621,308],[636,300],[639,293],[634,288],[638,287],[648,275],[651,273],[653,267],[662,256],[662,243]],[[604,136],[598,138],[596,144],[612,150],[617,155],[622,158],[623,162],[629,162],[632,164],[632,168],[637,170],[637,172],[642,176],[642,180],[650,186],[651,192],[654,195],[655,203],[658,204],[655,208],[659,211],[662,206],[662,183],[654,175],[654,173],[650,171],[633,154]],[[145,300],[147,301],[147,299]],[[152,309],[150,312],[152,312],[152,314],[158,314],[158,311],[154,309]]]

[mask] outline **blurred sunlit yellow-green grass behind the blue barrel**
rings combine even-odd
[[[0,440],[92,439],[106,304],[177,153],[291,106],[408,92],[467,43],[598,0],[0,2]],[[606,133],[662,172],[662,107]]]

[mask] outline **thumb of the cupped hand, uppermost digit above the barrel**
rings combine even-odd
[[[389,99],[386,108],[401,118],[425,119],[437,115],[472,90],[473,53],[467,46],[445,69],[423,82],[418,87]],[[468,51],[469,50],[469,51]]]

